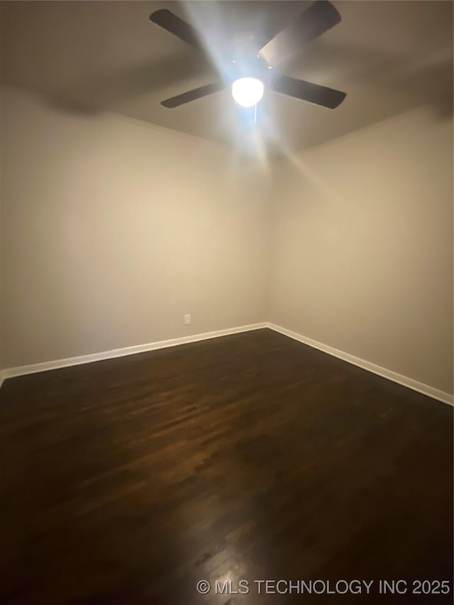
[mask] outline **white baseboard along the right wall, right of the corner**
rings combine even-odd
[[[344,353],[344,351],[335,349],[328,345],[324,345],[323,343],[319,343],[317,340],[312,340],[312,338],[306,338],[306,336],[302,336],[297,332],[292,332],[292,330],[287,330],[287,328],[281,328],[281,326],[276,326],[275,323],[267,323],[267,328],[270,328],[275,332],[279,332],[280,334],[284,334],[285,336],[289,336],[289,338],[293,338],[294,340],[299,340],[300,343],[309,345],[309,347],[313,347],[314,349],[319,349],[323,351],[323,353],[328,353],[328,355],[333,355],[333,357],[338,357],[343,361],[346,361],[353,365],[358,365],[359,367],[362,367],[363,370],[372,372],[372,374],[378,374],[383,378],[387,378],[388,380],[392,380],[392,382],[402,384],[404,387],[408,387],[409,389],[418,391],[423,395],[427,395],[428,397],[432,397],[433,399],[438,399],[438,401],[443,401],[444,404],[448,404],[450,406],[454,405],[453,395],[445,393],[444,391],[440,391],[439,389],[435,389],[434,387],[429,387],[428,384],[423,384],[423,382],[418,382],[413,378],[403,376],[402,374],[397,374],[397,372],[387,370],[386,367],[375,365],[375,363],[365,361],[363,359],[360,359],[360,357],[350,355],[350,353]]]

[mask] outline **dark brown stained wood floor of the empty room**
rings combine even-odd
[[[268,330],[9,379],[0,404],[1,604],[452,602],[450,406]]]

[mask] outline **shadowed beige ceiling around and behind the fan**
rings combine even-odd
[[[201,138],[270,154],[297,152],[371,123],[433,104],[452,112],[453,3],[333,1],[342,21],[282,71],[347,93],[335,110],[272,91],[256,123],[228,90],[176,109],[162,99],[208,84],[223,40],[265,40],[307,1],[1,2],[1,82],[33,91],[71,113],[109,111]],[[167,8],[206,45],[194,50],[149,21]]]

